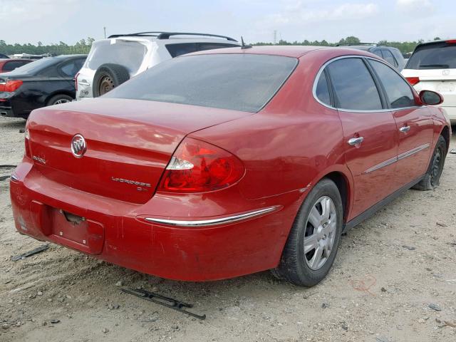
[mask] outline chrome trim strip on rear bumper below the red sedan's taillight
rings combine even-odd
[[[204,227],[242,221],[243,219],[249,219],[262,214],[267,214],[269,212],[274,212],[276,209],[279,209],[279,206],[259,209],[253,212],[244,212],[244,214],[236,214],[228,217],[221,217],[219,219],[201,219],[197,221],[187,221],[183,219],[158,219],[155,217],[146,217],[145,220],[148,222],[168,224],[170,226],[177,227]]]

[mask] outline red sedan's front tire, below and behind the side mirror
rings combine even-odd
[[[447,156],[447,142],[440,135],[435,145],[434,153],[430,158],[429,167],[423,180],[413,186],[416,190],[434,190],[440,184],[440,176],[442,175],[443,166],[445,165],[445,157]]]

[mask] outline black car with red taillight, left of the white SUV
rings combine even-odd
[[[71,102],[86,55],[43,58],[0,75],[0,115],[27,118],[33,109]]]

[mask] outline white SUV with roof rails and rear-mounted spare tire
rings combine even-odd
[[[94,41],[76,75],[76,99],[96,98],[168,59],[195,51],[240,46],[233,38],[205,33],[140,32]]]

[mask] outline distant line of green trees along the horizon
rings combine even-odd
[[[440,38],[435,37],[434,40],[440,40]],[[88,53],[90,51],[90,47],[92,46],[94,38],[88,37],[87,39],[81,39],[74,45],[68,45],[67,43],[63,43],[60,41],[59,43],[53,43],[51,45],[43,45],[41,41],[38,41],[36,45],[31,43],[26,44],[8,44],[3,40],[0,40],[0,53],[4,53],[6,55],[14,55],[15,53],[30,53],[31,55],[42,55],[45,53],[51,55],[68,55],[68,54],[77,54],[77,53]],[[401,52],[412,52],[415,49],[415,46],[418,43],[423,43],[424,40],[420,39],[418,41],[378,41],[377,43],[380,45],[386,46],[394,46],[398,48]],[[313,45],[313,46],[336,46],[337,44],[358,44],[361,43],[360,39],[355,36],[348,36],[346,38],[342,38],[338,43],[329,43],[328,41],[285,41],[280,40],[278,43],[264,43],[258,42],[253,43],[252,45]]]

